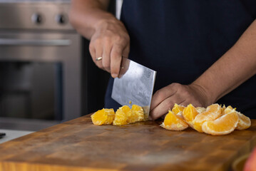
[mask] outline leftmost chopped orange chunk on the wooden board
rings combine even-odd
[[[111,125],[114,118],[115,112],[113,108],[103,108],[102,110],[98,110],[96,113],[93,113],[93,115],[91,115],[91,120],[93,121],[94,125]]]

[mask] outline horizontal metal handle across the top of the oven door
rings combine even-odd
[[[53,39],[53,40],[36,40],[36,39],[18,39],[18,38],[0,38],[0,46],[69,46],[71,40]]]

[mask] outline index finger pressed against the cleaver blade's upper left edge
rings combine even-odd
[[[118,45],[113,45],[111,50],[111,76],[113,78],[118,77],[121,61],[122,61],[123,48]]]

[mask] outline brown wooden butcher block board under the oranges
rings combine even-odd
[[[256,120],[247,130],[222,136],[159,124],[96,126],[86,115],[4,142],[0,170],[229,170],[256,145]]]

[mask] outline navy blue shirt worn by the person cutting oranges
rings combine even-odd
[[[154,90],[195,81],[255,17],[255,0],[124,0],[121,13],[130,36],[129,58],[157,71]],[[105,107],[116,109],[112,86],[111,78]],[[217,103],[256,118],[256,76]]]

